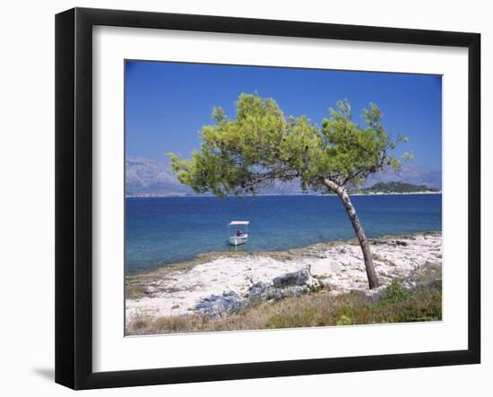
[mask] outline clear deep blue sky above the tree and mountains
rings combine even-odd
[[[286,116],[307,115],[317,125],[339,99],[350,100],[359,123],[362,108],[374,102],[387,133],[409,137],[394,154],[413,151],[416,166],[441,170],[441,76],[256,66],[126,61],[126,155],[188,157],[199,149],[202,125],[212,124],[212,108],[232,118],[238,95],[255,91],[275,99]]]

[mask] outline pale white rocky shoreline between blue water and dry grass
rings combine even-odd
[[[402,280],[412,288],[413,274],[441,266],[440,232],[370,240],[382,287]],[[255,301],[281,300],[317,289],[371,295],[361,249],[356,241],[316,244],[281,252],[211,253],[158,271],[125,279],[126,321],[135,316],[216,317]]]

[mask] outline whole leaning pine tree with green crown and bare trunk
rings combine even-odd
[[[364,126],[351,120],[350,104],[339,101],[320,127],[307,117],[285,117],[273,99],[241,94],[235,119],[214,108],[213,125],[203,126],[201,150],[189,160],[169,153],[178,180],[196,193],[255,194],[273,181],[298,180],[304,191],[339,196],[363,251],[369,288],[378,287],[368,239],[348,187],[385,168],[400,168],[390,153],[405,138],[385,133],[380,110],[363,109]]]

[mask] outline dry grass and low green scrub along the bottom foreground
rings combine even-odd
[[[408,323],[441,320],[441,272],[431,266],[415,275],[416,289],[394,281],[380,294],[368,297],[353,291],[334,296],[319,289],[277,302],[256,302],[218,318],[180,315],[152,318],[138,315],[127,325],[127,335],[170,332],[262,330],[350,324]]]

